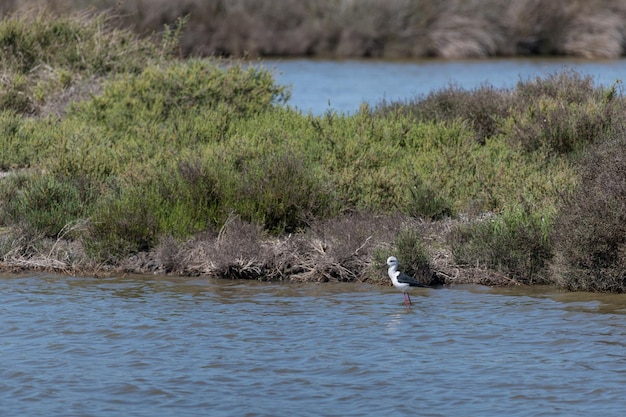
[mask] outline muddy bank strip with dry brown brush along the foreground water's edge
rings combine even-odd
[[[482,284],[522,285],[480,266],[455,264],[446,236],[460,220],[422,221],[405,216],[353,213],[317,222],[311,229],[268,237],[255,225],[232,219],[219,234],[180,242],[162,239],[158,247],[115,262],[95,262],[79,241],[28,241],[15,231],[0,230],[0,243],[12,245],[0,260],[2,272],[47,271],[69,275],[117,274],[205,276],[287,282],[369,282],[390,285],[385,259],[396,255],[399,230],[417,230],[426,242],[429,268],[415,273],[431,286]],[[402,268],[402,264],[401,264]]]

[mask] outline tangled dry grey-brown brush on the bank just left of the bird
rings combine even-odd
[[[315,220],[306,231],[276,238],[257,225],[232,218],[219,235],[207,233],[183,243],[163,239],[156,253],[165,272],[181,275],[366,281],[384,275],[384,268],[372,262],[373,251],[390,247],[396,233],[411,221],[400,216],[350,213]]]

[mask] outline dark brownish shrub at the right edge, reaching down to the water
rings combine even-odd
[[[554,281],[570,290],[626,291],[626,135],[581,165],[555,227]]]

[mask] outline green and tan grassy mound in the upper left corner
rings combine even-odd
[[[173,42],[163,47],[174,48]],[[24,12],[0,20],[0,110],[41,111],[85,79],[138,73],[168,56],[150,40],[115,29],[107,15]]]

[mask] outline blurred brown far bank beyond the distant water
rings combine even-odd
[[[482,58],[624,55],[619,0],[26,0],[59,13],[112,10],[138,33],[187,17],[187,55]]]

